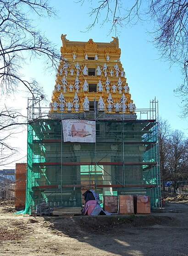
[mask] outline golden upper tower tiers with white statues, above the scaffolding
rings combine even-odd
[[[118,38],[110,43],[73,42],[61,35],[61,60],[50,103],[50,115],[101,111],[136,118]],[[119,115],[118,115],[119,114]],[[68,115],[70,116],[70,115]],[[109,115],[108,115],[109,116]]]

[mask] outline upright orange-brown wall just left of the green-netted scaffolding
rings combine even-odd
[[[26,163],[16,163],[15,208],[25,207],[26,200]]]

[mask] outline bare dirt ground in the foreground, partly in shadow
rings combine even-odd
[[[0,207],[0,256],[188,256],[182,199],[135,216],[30,217]]]

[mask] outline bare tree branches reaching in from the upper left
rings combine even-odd
[[[0,0],[0,90],[15,91],[20,84],[33,95],[38,83],[23,79],[21,68],[28,58],[46,57],[50,65],[59,61],[55,46],[33,25],[32,17],[55,15],[47,0]]]

